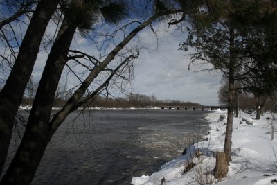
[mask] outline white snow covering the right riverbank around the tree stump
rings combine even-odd
[[[133,177],[132,184],[277,184],[277,139],[271,141],[271,119],[266,119],[270,113],[265,113],[261,120],[255,120],[255,115],[247,113],[242,113],[242,117],[244,121],[233,118],[232,161],[226,178],[213,177],[215,154],[224,149],[226,130],[226,112],[217,110],[206,116],[211,122],[207,141],[189,146],[186,155],[169,161],[150,176]],[[247,121],[253,125],[248,125]],[[195,156],[195,152],[201,155]],[[186,166],[192,163],[195,166],[184,173]],[[165,182],[162,183],[162,179]]]

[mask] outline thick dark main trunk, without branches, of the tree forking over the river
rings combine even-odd
[[[47,123],[50,119],[55,91],[66,64],[66,56],[76,28],[77,26],[68,26],[66,21],[63,21],[39,82],[24,139],[3,176],[1,184],[30,184],[32,182],[39,161],[51,139],[51,134],[48,132],[50,127]]]

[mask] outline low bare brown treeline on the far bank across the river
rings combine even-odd
[[[66,98],[56,98],[54,106],[62,107],[66,103]],[[32,105],[33,98],[24,98],[21,105]],[[103,108],[145,108],[145,107],[161,107],[162,105],[170,106],[198,106],[199,103],[192,103],[189,101],[179,100],[157,100],[154,96],[147,96],[144,94],[131,93],[128,96],[111,98],[105,96],[98,96],[93,101],[87,103],[86,107],[103,107]]]

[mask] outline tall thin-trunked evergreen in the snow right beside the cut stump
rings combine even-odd
[[[253,24],[258,26],[275,12],[269,1],[207,1],[206,7],[195,14],[195,19],[191,19],[193,24],[188,28],[188,39],[181,47],[184,50],[195,48],[192,62],[209,62],[229,80],[224,143],[228,162],[231,161],[235,80],[242,78],[245,73],[240,73],[240,69],[249,64],[245,49],[249,40],[242,36],[253,28]]]

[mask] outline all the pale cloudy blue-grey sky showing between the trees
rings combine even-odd
[[[184,55],[184,51],[178,50],[179,44],[184,41],[182,33],[175,30],[174,26],[168,28],[165,22],[152,26],[156,35],[149,27],[139,34],[140,41],[147,49],[141,51],[135,62],[134,80],[129,84],[128,91],[147,96],[154,94],[157,100],[218,105],[217,91],[221,74],[205,71],[196,73],[195,71],[199,70],[197,67],[188,70],[190,58]],[[47,33],[51,34],[54,30],[55,26],[50,24]],[[78,45],[82,51],[91,51],[91,45],[81,37],[75,37],[73,44]],[[33,76],[37,79],[42,74],[46,57],[47,54],[42,52],[37,57],[33,70]],[[73,81],[69,80],[72,86]],[[117,92],[114,96],[125,95]]]

